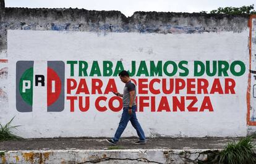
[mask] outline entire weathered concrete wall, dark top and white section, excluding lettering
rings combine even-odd
[[[195,60],[203,63],[209,61],[211,64],[213,61],[221,60],[229,65],[240,61],[245,66],[245,72],[236,76],[232,75],[229,69],[227,76],[204,74],[200,78],[207,79],[210,85],[215,78],[218,78],[223,87],[225,79],[230,78],[236,83],[233,94],[216,92],[208,95],[213,106],[212,111],[207,109],[199,112],[203,97],[207,96],[202,94],[190,94],[198,99],[196,104],[198,112],[189,112],[187,109],[189,102],[186,102],[184,112],[179,109],[177,112],[173,112],[173,109],[171,112],[167,110],[152,112],[151,104],[150,107],[144,105],[144,111],[137,114],[145,134],[148,137],[231,137],[254,133],[256,121],[253,105],[255,102],[254,72],[249,72],[249,70],[255,70],[253,57],[256,25],[254,22],[255,18],[249,19],[249,15],[135,12],[132,17],[127,18],[118,11],[5,8],[0,25],[0,100],[2,104],[0,122],[6,123],[15,115],[14,124],[22,125],[19,128],[20,131],[15,133],[28,138],[111,137],[121,117],[121,111],[99,112],[91,104],[88,112],[81,112],[76,104],[75,111],[72,112],[67,96],[77,96],[77,94],[67,94],[67,78],[79,81],[82,77],[70,76],[70,65],[67,61],[85,60],[91,67],[93,60],[99,63],[109,60],[113,64],[121,60],[124,67],[130,69],[133,59],[138,67],[142,60],[145,60],[147,65],[150,65],[150,60],[174,61],[177,64],[183,60],[188,63],[187,76],[180,76],[177,73],[173,76],[142,75],[134,78],[135,80],[140,78],[187,80],[198,78],[194,75]],[[45,74],[47,61],[64,62],[63,112],[51,112],[51,110],[49,112],[44,106],[47,100],[44,88],[34,89],[36,96],[33,97],[32,112],[19,110],[15,81],[20,68],[17,62],[21,60],[34,61],[35,74],[45,75],[45,77],[47,77]],[[100,69],[104,70],[101,66]],[[75,72],[78,71],[75,68]],[[87,77],[87,79],[91,78]],[[106,82],[111,77],[96,76],[95,78]],[[113,76],[113,79],[118,91],[121,92],[122,83],[116,76]],[[88,86],[91,85],[88,83]],[[106,83],[103,85],[106,86]],[[98,96],[105,96],[108,99],[113,97],[111,94]],[[93,103],[98,96],[90,95]],[[154,94],[149,93],[147,96],[154,96]],[[160,104],[163,96],[169,96],[168,99],[173,96],[181,98],[181,96],[187,96],[187,89],[184,89],[181,94],[156,95],[156,104]],[[148,100],[145,102],[147,103]],[[173,107],[172,103],[173,100],[170,100],[171,107]],[[115,104],[118,105],[116,102]],[[136,136],[132,126],[127,127],[124,136]]]

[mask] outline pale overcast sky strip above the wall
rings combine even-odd
[[[130,17],[135,11],[200,12],[218,7],[256,5],[255,0],[5,0],[6,7],[79,8],[87,10],[119,10]],[[256,8],[256,7],[255,7]]]

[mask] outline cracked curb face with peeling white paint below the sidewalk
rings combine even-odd
[[[198,163],[216,162],[219,150],[45,150],[9,151],[1,163]],[[218,162],[217,162],[218,163]]]

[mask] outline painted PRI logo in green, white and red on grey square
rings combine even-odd
[[[37,88],[47,89],[47,111],[64,110],[65,64],[62,61],[48,61],[45,75],[34,75],[33,61],[16,63],[16,109],[19,112],[32,112],[33,97]]]

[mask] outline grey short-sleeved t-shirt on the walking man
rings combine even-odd
[[[129,107],[130,104],[130,91],[135,91],[134,94],[134,103],[132,105],[136,105],[136,86],[132,81],[128,81],[126,86],[124,86],[124,94],[122,95],[122,106]]]

